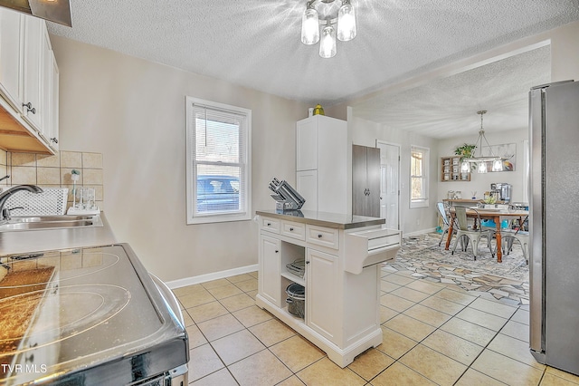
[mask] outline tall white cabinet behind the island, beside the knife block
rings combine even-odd
[[[302,209],[347,212],[349,151],[346,121],[324,115],[298,121],[296,189],[306,199]]]

